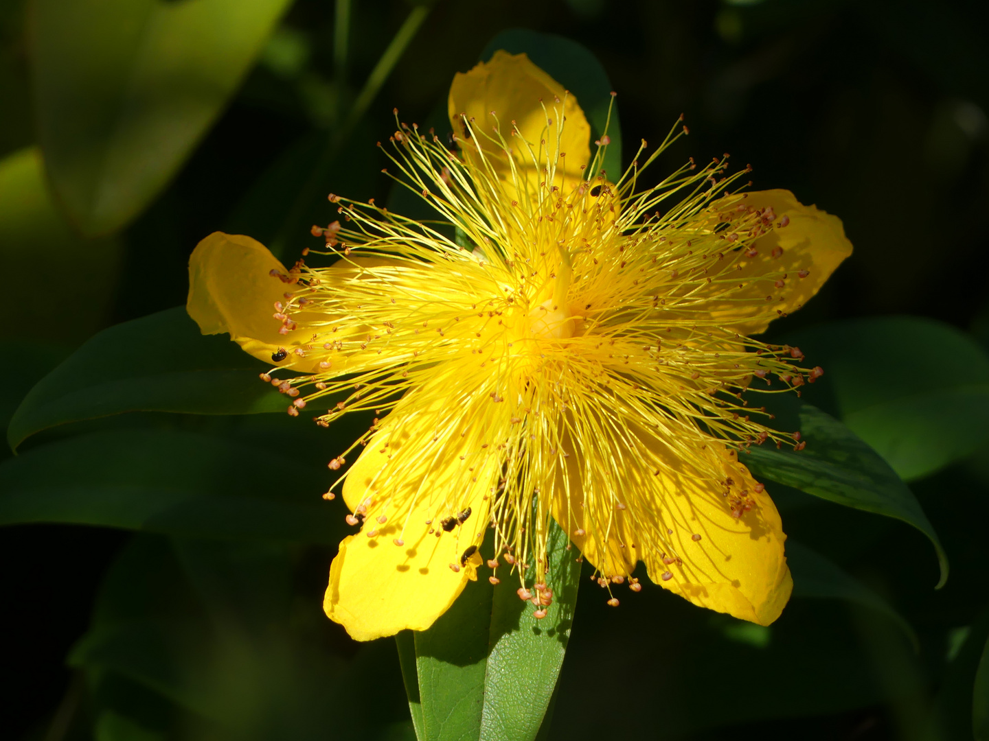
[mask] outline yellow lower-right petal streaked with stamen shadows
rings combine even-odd
[[[610,576],[630,574],[642,559],[650,579],[694,605],[763,625],[779,617],[793,588],[783,554],[786,536],[772,500],[756,491],[736,453],[711,440],[688,447],[691,457],[720,467],[723,478],[714,480],[698,476],[682,445],[674,453],[642,431],[636,436],[641,464],[628,451],[615,453],[624,453],[627,463],[617,492],[625,509],[615,513],[606,542],[591,537],[595,529],[588,520],[601,522],[602,512],[588,511],[574,476],[569,501],[559,488],[555,493],[553,516],[587,560]],[[575,535],[578,529],[588,535]]]

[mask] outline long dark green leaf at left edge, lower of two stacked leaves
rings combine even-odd
[[[332,543],[326,471],[270,448],[166,430],[115,430],[0,463],[0,525],[73,523]]]

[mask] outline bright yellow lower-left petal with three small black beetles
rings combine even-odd
[[[488,525],[496,454],[468,453],[480,449],[473,435],[461,436],[469,415],[451,420],[434,407],[395,422],[413,403],[406,396],[386,418],[343,486],[351,511],[363,505],[367,513],[361,533],[340,543],[323,610],[356,640],[425,630],[477,578],[481,563],[470,548],[481,545]],[[446,532],[443,521],[468,508],[469,517]]]

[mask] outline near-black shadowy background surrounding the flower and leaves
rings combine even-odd
[[[303,193],[314,158],[409,8],[400,0],[356,5],[349,84],[334,76],[332,3],[298,0],[178,176],[117,237],[101,280],[72,285],[54,246],[28,263],[0,255],[12,284],[54,276],[37,281],[37,308],[12,300],[4,312],[9,386],[27,390],[59,347],[68,353],[103,327],[182,304],[189,253],[211,231],[269,244],[281,235],[285,254],[295,254],[309,225],[331,218],[326,192],[387,200],[374,142],[394,127],[392,108],[404,121],[425,121],[445,100],[453,73],[473,66],[494,34],[513,27],[580,41],[597,56],[618,93],[626,156],[640,138],[661,140],[682,113],[690,135],[661,166],[730,152],[737,164],[752,163],[755,188],[787,188],[841,216],[853,257],[773,331],[905,313],[989,340],[986,3],[442,0],[315,193]],[[0,155],[36,141],[24,29],[25,3],[4,3]],[[275,187],[272,168],[285,173]],[[314,206],[287,224],[291,206],[311,196]],[[39,342],[48,350],[37,351]],[[659,590],[619,611],[606,611],[590,591],[582,593],[551,737],[929,738],[922,726],[950,682],[951,641],[986,604],[984,475],[969,461],[914,486],[954,567],[939,593],[920,535],[835,507],[780,505],[787,533],[828,552],[907,617],[921,636],[920,654],[896,643],[887,623],[834,603],[794,601],[773,626],[773,653],[765,655],[762,634],[739,637],[720,616]],[[71,683],[81,681],[65,656],[132,537],[54,525],[0,533],[3,738],[91,737],[85,707],[92,700],[65,709]],[[296,594],[313,608],[331,555],[293,553]],[[344,660],[356,655],[338,626],[314,618],[307,629]],[[391,644],[379,644],[368,660],[379,677],[373,706],[399,723],[397,662]],[[68,730],[51,735],[59,706],[71,716]],[[345,734],[330,723],[292,737]]]

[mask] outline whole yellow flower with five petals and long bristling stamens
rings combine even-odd
[[[578,102],[524,54],[458,74],[449,110],[459,151],[400,124],[390,156],[457,239],[331,195],[341,220],[314,227],[329,267],[286,270],[220,233],[190,262],[189,313],[274,362],[283,373],[262,378],[290,414],[376,415],[329,463],[361,451],[342,485],[361,528],[333,560],[326,614],[359,640],[425,629],[485,560],[548,602],[552,518],[609,593],[641,589],[641,560],[696,605],[771,622],[792,586],[785,535],[738,452],[802,444],[742,391],[820,369],[748,335],[851,254],[841,221],[786,191],[740,193],[748,168],[726,159],[642,187],[679,126],[620,177],[598,172],[608,138],[591,157]]]

